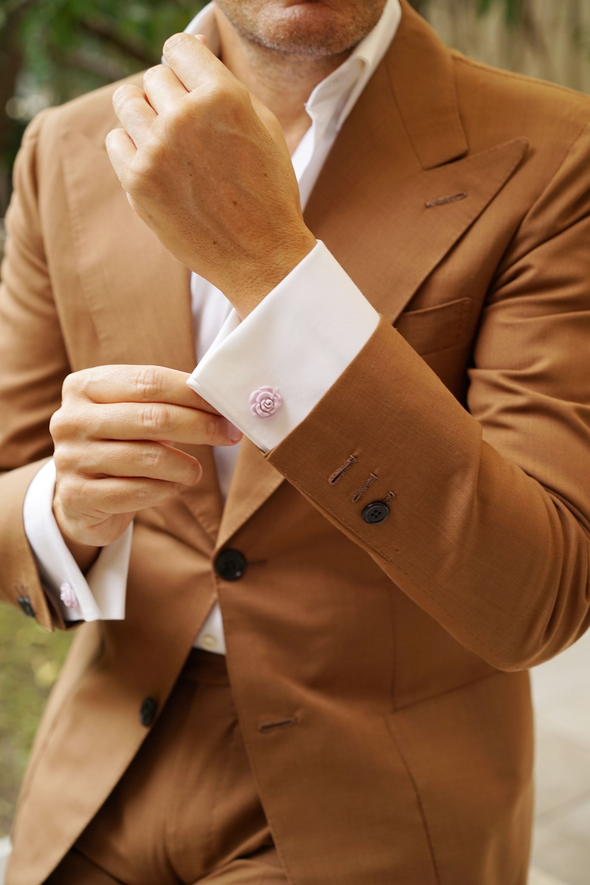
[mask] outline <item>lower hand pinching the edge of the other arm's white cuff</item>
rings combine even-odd
[[[65,379],[50,431],[53,511],[82,570],[146,507],[194,486],[203,469],[174,443],[235,445],[240,431],[160,366],[98,366]]]

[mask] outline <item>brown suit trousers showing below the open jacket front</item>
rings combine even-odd
[[[285,885],[226,659],[192,650],[126,773],[46,885]]]

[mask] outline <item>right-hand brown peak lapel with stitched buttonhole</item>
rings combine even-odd
[[[308,203],[308,227],[326,242],[391,322],[523,158],[526,142],[465,157],[453,62],[402,0],[386,58],[342,127]],[[218,547],[280,486],[244,440]]]

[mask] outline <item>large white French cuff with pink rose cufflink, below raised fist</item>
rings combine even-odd
[[[270,451],[307,418],[378,323],[318,241],[243,322],[230,313],[187,383]]]

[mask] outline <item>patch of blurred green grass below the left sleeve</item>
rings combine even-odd
[[[0,838],[9,832],[34,732],[71,639],[0,604]]]

